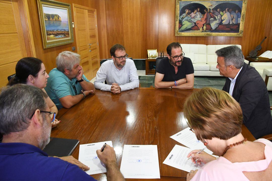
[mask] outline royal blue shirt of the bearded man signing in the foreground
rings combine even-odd
[[[0,180],[92,180],[78,166],[26,143],[0,143]]]

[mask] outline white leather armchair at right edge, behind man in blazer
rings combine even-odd
[[[272,62],[251,62],[250,66],[259,72],[264,81],[266,76],[272,76]],[[272,91],[272,77],[268,79],[267,90]]]

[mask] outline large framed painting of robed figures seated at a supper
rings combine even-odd
[[[243,36],[247,0],[176,0],[176,36]]]

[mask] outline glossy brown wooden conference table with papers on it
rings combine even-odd
[[[161,179],[150,180],[186,180],[188,172],[163,161],[176,144],[181,145],[169,136],[188,127],[183,103],[198,90],[136,88],[119,94],[96,90],[72,108],[59,111],[61,123],[51,136],[79,139],[79,144],[112,141],[119,168],[124,145],[157,145]],[[248,140],[255,140],[245,126],[242,130]],[[72,156],[78,159],[78,154],[79,145]],[[92,177],[106,180],[105,173]]]

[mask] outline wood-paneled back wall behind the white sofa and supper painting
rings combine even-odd
[[[109,58],[109,49],[115,43],[124,45],[133,58],[146,58],[147,49],[166,53],[167,45],[174,41],[240,44],[244,55],[248,56],[267,36],[260,53],[272,48],[271,0],[248,0],[242,37],[175,36],[175,0],[99,0],[98,4],[100,58]]]

